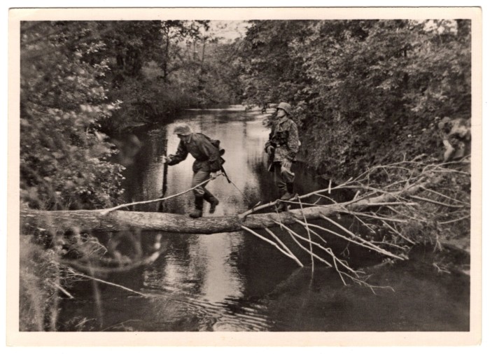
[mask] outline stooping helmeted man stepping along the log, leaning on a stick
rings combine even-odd
[[[190,153],[195,158],[193,164],[193,187],[200,185],[200,183],[209,178],[216,178],[216,173],[221,169],[221,164],[223,163],[218,148],[219,141],[211,140],[204,134],[194,133],[186,124],[177,125],[174,129],[174,134],[177,134],[181,142],[175,155],[165,157],[165,163],[170,166],[178,164],[186,160],[187,155]],[[193,190],[195,208],[189,214],[191,218],[200,218],[202,216],[204,200],[211,204],[209,208],[209,213],[211,214],[214,213],[216,206],[219,204],[218,199],[205,188],[205,185],[207,183]]]

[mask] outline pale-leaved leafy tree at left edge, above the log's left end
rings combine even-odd
[[[93,24],[22,22],[20,60],[21,199],[47,209],[113,204],[122,167],[98,122],[118,103],[107,99],[105,45]]]

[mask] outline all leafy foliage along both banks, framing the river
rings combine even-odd
[[[471,118],[470,25],[251,21],[244,38],[225,43],[209,21],[22,22],[21,202],[113,206],[123,167],[109,162],[116,150],[106,134],[219,104],[293,104],[302,157],[328,178],[423,154],[442,160],[444,125]],[[460,172],[440,191],[469,206],[470,176]],[[469,214],[457,220],[428,229],[413,217],[402,231],[465,236]],[[21,330],[56,328],[64,253],[43,246],[22,241]]]

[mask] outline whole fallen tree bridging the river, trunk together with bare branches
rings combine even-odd
[[[316,190],[302,196],[295,196],[289,201],[281,201],[299,206],[299,208],[282,213],[257,213],[265,208],[274,208],[277,201],[256,205],[239,215],[197,219],[171,213],[120,210],[127,206],[154,203],[176,197],[176,195],[190,191],[187,190],[166,198],[136,201],[101,210],[38,211],[24,209],[20,212],[20,222],[23,227],[22,231],[27,234],[33,229],[44,229],[50,234],[71,229],[74,234],[78,234],[78,239],[83,239],[79,234],[80,232],[90,231],[119,232],[130,230],[133,231],[130,234],[139,235],[139,231],[216,234],[245,230],[277,248],[300,267],[304,267],[304,261],[302,262],[293,253],[293,250],[304,251],[311,256],[311,271],[314,271],[314,262],[319,261],[329,267],[335,267],[344,283],[346,283],[346,278],[349,278],[354,283],[366,285],[374,292],[374,289],[378,287],[367,283],[368,276],[362,271],[356,271],[356,269],[349,267],[346,260],[337,257],[323,238],[325,235],[322,236],[318,232],[340,238],[360,248],[366,248],[382,257],[390,257],[391,260],[407,260],[411,246],[418,243],[417,235],[423,235],[428,232],[427,230],[433,230],[435,247],[440,247],[444,241],[439,237],[440,227],[453,225],[455,222],[470,218],[468,194],[461,188],[461,185],[467,183],[470,174],[464,170],[449,169],[448,164],[423,164],[404,161],[373,167],[358,178],[350,178],[341,185],[332,187],[329,184],[325,190]],[[393,169],[394,173],[388,174],[387,169]],[[388,184],[379,185],[375,179],[374,181],[371,179],[371,174],[376,174],[380,170],[383,174],[388,174]],[[452,185],[449,184],[451,188],[442,188],[439,192],[429,189],[431,185],[444,181],[444,176],[448,174],[453,176],[450,180]],[[458,180],[454,178],[455,175],[461,176],[462,181],[459,186],[457,185]],[[355,197],[351,201],[342,203],[332,199],[333,195],[330,192],[342,189],[352,190],[355,192]],[[307,199],[309,197],[318,197],[318,199],[313,204],[308,204],[306,201],[309,200]],[[329,201],[332,204],[318,205],[318,201],[321,200]],[[336,222],[335,218],[331,218],[332,215],[339,214],[350,215],[351,219],[349,220],[352,222],[349,221],[349,223],[351,225],[343,225]],[[309,220],[316,219],[327,220],[329,225],[309,223]],[[304,230],[298,231],[288,227],[288,225],[294,224],[302,225]],[[287,232],[297,246],[296,248],[289,248],[279,237],[287,234],[282,232],[282,234],[276,235],[272,229],[269,229],[278,225],[281,225],[281,229]],[[272,239],[253,229],[265,229]],[[42,235],[43,232],[41,232]],[[137,239],[141,240],[138,236]],[[425,236],[423,240],[426,240]],[[83,246],[84,243],[81,244]],[[155,241],[156,244],[160,243]],[[81,253],[85,254],[83,247],[81,248]],[[132,262],[123,265],[123,267],[111,267],[110,269],[94,267],[93,264],[98,264],[99,260],[97,257],[92,260],[94,257],[90,257],[90,255],[86,259],[70,260],[69,262],[71,262],[70,267],[76,266],[78,269],[92,273],[99,271],[102,274],[111,274],[148,264],[147,260],[153,262],[159,254],[154,253],[144,260],[130,257]],[[64,262],[66,261],[64,260]]]

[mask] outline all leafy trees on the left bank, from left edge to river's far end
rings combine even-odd
[[[108,162],[115,150],[102,132],[234,101],[226,45],[207,29],[208,21],[23,22],[22,200],[47,209],[110,206],[122,192],[122,167]]]

